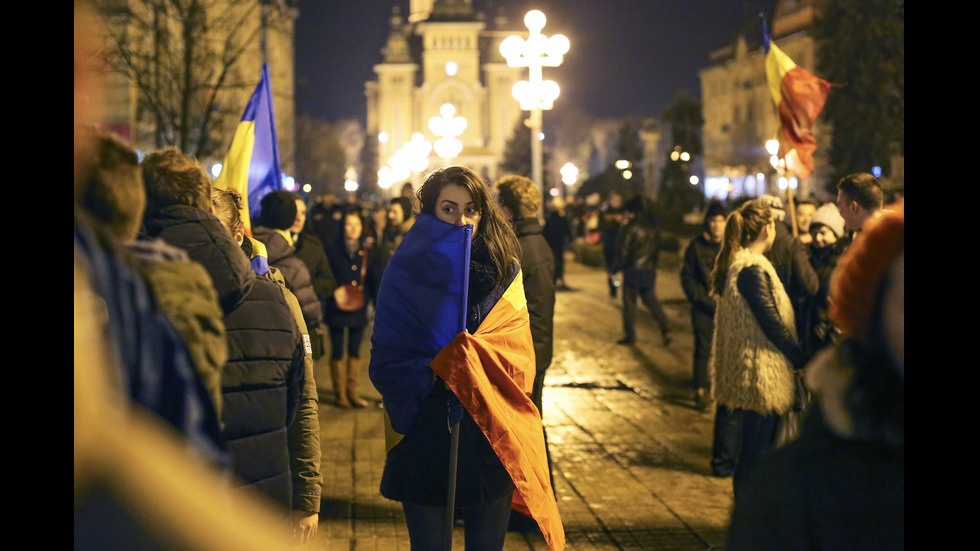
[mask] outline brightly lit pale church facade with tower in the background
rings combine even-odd
[[[448,103],[466,119],[457,137],[462,150],[448,160],[433,151],[423,173],[460,164],[491,181],[498,176],[505,145],[524,116],[511,95],[522,69],[508,67],[499,49],[504,38],[521,33],[496,28],[503,25],[498,18],[488,26],[469,0],[411,0],[407,20],[395,8],[376,79],[365,85],[367,136],[378,140],[376,171],[413,134],[430,144],[439,139],[429,121]],[[416,182],[421,174],[413,174]]]

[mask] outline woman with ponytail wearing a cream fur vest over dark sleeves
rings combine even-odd
[[[714,396],[739,418],[736,499],[752,465],[773,447],[795,400],[794,370],[806,362],[792,302],[764,256],[775,225],[758,200],[731,213],[710,276],[718,304],[710,360]]]

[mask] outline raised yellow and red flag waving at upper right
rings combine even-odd
[[[770,39],[765,19],[762,42],[766,52],[766,79],[773,102],[779,111],[781,132],[779,155],[786,167],[798,178],[813,172],[813,152],[817,138],[813,124],[827,103],[830,83],[798,66]]]

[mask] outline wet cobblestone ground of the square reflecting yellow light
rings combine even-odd
[[[691,378],[689,307],[676,271],[658,295],[677,326],[669,348],[640,307],[638,343],[620,346],[620,303],[601,270],[567,262],[572,291],[558,294],[555,358],[544,393],[544,423],[568,549],[719,549],[731,507],[731,479],[710,475],[712,411],[700,411]],[[408,550],[398,503],[378,493],[384,465],[380,397],[373,407],[333,406],[327,363],[317,367],[323,446],[323,505],[317,549]],[[463,533],[454,548],[463,549]],[[506,550],[547,549],[540,535],[508,533]]]

